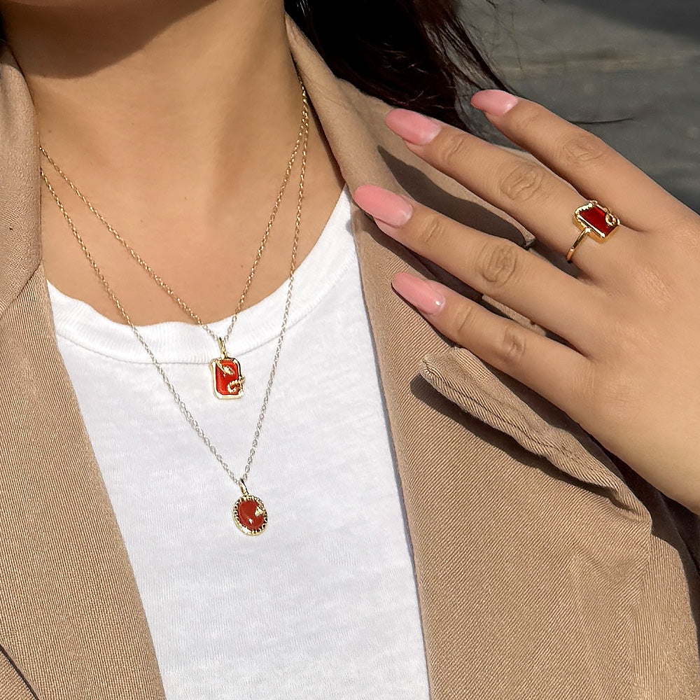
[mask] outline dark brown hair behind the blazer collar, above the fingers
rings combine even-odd
[[[284,4],[335,75],[392,106],[469,128],[460,101],[505,88],[460,20],[457,0]]]

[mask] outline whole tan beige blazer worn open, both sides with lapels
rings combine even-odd
[[[288,36],[351,190],[405,191],[523,242],[492,207],[409,153],[384,126],[388,107],[335,78],[290,21]],[[57,351],[38,173],[34,110],[5,50],[0,699],[162,700],[124,542]],[[402,270],[440,272],[354,205],[352,226],[433,700],[698,700],[698,519],[545,400],[445,342],[389,286]]]

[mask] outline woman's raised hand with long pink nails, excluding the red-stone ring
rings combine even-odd
[[[622,222],[584,237],[578,274],[381,188],[353,195],[379,228],[551,331],[538,335],[435,281],[393,288],[454,342],[531,387],[660,491],[700,514],[700,217],[600,139],[496,90],[472,105],[539,161],[395,109],[420,158],[566,255],[573,213],[598,200]],[[543,164],[545,167],[542,167]]]

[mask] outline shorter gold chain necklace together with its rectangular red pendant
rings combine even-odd
[[[187,304],[181,295],[176,294],[174,290],[172,289],[169,284],[162,279],[162,277],[155,272],[153,267],[144,260],[144,258],[137,253],[137,251],[134,250],[134,248],[128,243],[128,241],[120,235],[120,233],[113,228],[113,226],[106,221],[106,218],[102,216],[102,214],[99,213],[97,210],[97,207],[94,207],[94,204],[90,202],[90,200],[87,199],[87,197],[83,194],[81,190],[78,189],[78,187],[73,183],[73,181],[69,178],[69,176],[66,175],[66,173],[63,171],[61,167],[51,158],[51,156],[45,151],[45,148],[43,146],[39,146],[39,151],[43,155],[43,157],[50,163],[50,165],[53,167],[55,172],[61,176],[61,178],[65,181],[65,183],[73,190],[73,193],[76,194],[76,196],[85,204],[87,209],[90,209],[92,214],[94,214],[95,217],[97,217],[98,221],[104,225],[106,230],[108,230],[111,235],[113,236],[116,241],[118,241],[123,248],[129,253],[129,255],[136,261],[138,264],[141,266],[142,269],[148,274],[148,276],[153,279],[156,283],[158,283],[158,286],[167,293],[167,295],[174,301],[176,304],[183,310],[184,313],[186,313],[192,320],[199,325],[205,332],[207,332],[207,335],[211,337],[211,339],[214,340],[218,344],[218,350],[219,350],[219,357],[215,358],[214,360],[211,360],[209,363],[209,367],[211,369],[211,381],[212,385],[214,388],[214,395],[216,395],[217,398],[221,399],[233,399],[233,398],[241,398],[243,396],[243,385],[245,381],[245,377],[241,372],[241,364],[239,363],[239,360],[235,357],[230,357],[228,355],[228,351],[226,349],[226,344],[228,343],[231,333],[233,332],[233,329],[235,327],[238,314],[240,313],[241,309],[243,308],[243,304],[245,303],[246,296],[248,295],[248,290],[251,288],[251,284],[253,283],[253,276],[255,276],[255,271],[258,269],[258,263],[262,259],[262,253],[265,251],[265,245],[267,244],[267,239],[269,238],[269,234],[272,231],[272,225],[274,224],[274,220],[277,216],[277,211],[279,211],[279,206],[282,201],[282,197],[284,195],[284,192],[287,187],[287,183],[289,181],[292,169],[294,167],[296,158],[297,158],[297,153],[299,151],[300,145],[302,143],[302,138],[304,137],[304,129],[308,128],[308,123],[309,123],[309,112],[308,112],[308,103],[307,103],[307,94],[306,94],[306,89],[304,88],[304,84],[302,83],[301,78],[297,74],[297,78],[299,80],[299,84],[302,90],[302,117],[301,117],[301,123],[299,127],[299,132],[297,134],[297,140],[295,141],[295,144],[292,149],[292,154],[290,155],[290,158],[287,162],[287,167],[282,179],[282,184],[281,187],[279,188],[279,192],[277,194],[276,200],[274,202],[274,207],[272,207],[272,214],[269,216],[269,220],[267,221],[267,226],[265,227],[265,234],[262,236],[262,240],[260,241],[260,246],[258,247],[258,252],[255,255],[255,260],[253,260],[253,266],[251,267],[251,271],[248,274],[248,279],[246,279],[245,286],[243,288],[243,292],[241,293],[241,297],[239,298],[236,310],[233,313],[233,316],[231,317],[231,322],[228,325],[228,328],[223,335],[223,337],[219,337],[214,333],[211,328],[209,328],[209,325],[207,323],[204,323],[202,321],[202,318],[198,314],[193,311],[193,309],[190,307],[189,304]],[[48,187],[49,192],[51,193],[52,197],[54,200],[57,200],[57,193],[54,190],[53,186],[51,185],[50,181],[48,180],[48,177],[46,174],[41,171],[41,178],[43,179],[45,185]]]

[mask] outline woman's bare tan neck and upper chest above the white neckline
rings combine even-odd
[[[230,316],[300,125],[282,1],[0,1],[0,11],[48,153],[204,321]],[[187,321],[44,169],[134,323]],[[246,306],[288,276],[298,174],[297,160]],[[343,185],[314,116],[299,260]],[[48,279],[122,322],[45,190],[41,218]]]

